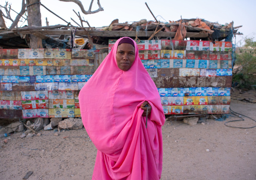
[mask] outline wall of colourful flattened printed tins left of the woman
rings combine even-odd
[[[80,117],[79,90],[94,73],[95,52],[0,50],[0,117]]]

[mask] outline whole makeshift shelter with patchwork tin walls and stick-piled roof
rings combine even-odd
[[[228,113],[237,28],[183,19],[0,30],[0,118],[80,117],[79,91],[124,36],[138,43],[165,114]],[[30,34],[43,49],[29,49]]]

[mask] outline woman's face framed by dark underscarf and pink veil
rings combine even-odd
[[[135,60],[135,48],[128,43],[122,43],[117,47],[116,62],[117,66],[122,71],[129,70]]]

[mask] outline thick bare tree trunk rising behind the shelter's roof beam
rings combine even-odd
[[[28,26],[42,26],[40,0],[26,0],[28,11]],[[31,5],[31,6],[29,6]],[[30,35],[30,48],[43,48],[42,39]]]

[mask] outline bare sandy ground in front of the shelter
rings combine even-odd
[[[256,104],[231,100],[231,109],[256,115]],[[208,119],[205,125],[166,121],[163,126],[163,172],[161,179],[256,179],[256,127],[231,128],[226,121]],[[232,125],[249,127],[252,120]],[[85,129],[41,131],[41,136],[20,138],[22,133],[1,139],[0,179],[91,179],[96,148]],[[68,136],[68,137],[67,137]],[[63,138],[67,137],[67,138]],[[207,152],[209,149],[209,152]]]

